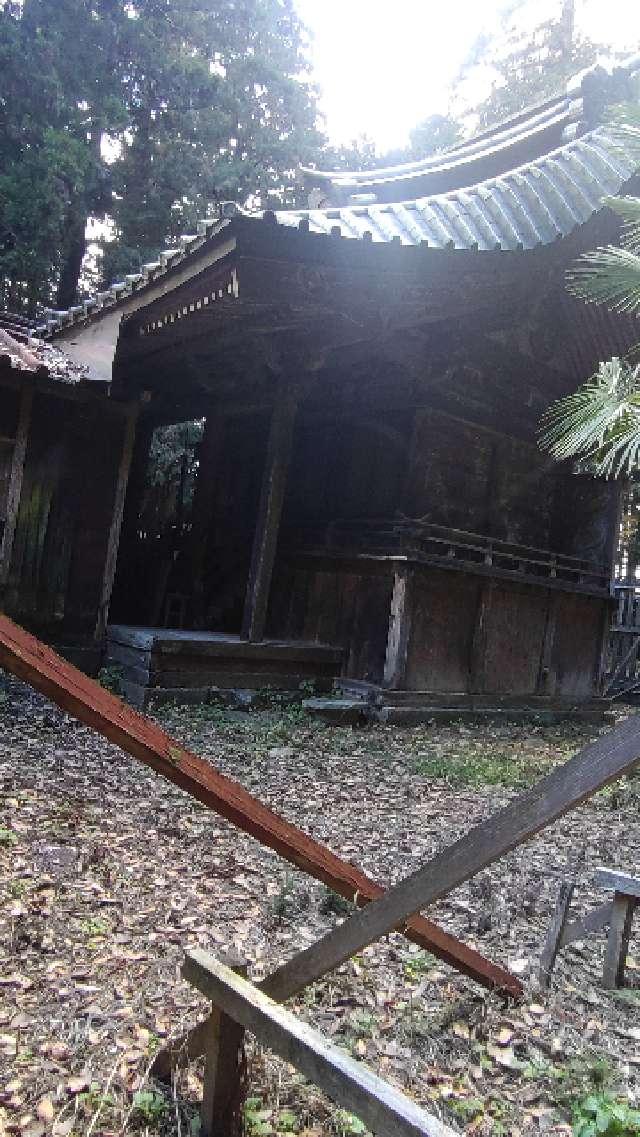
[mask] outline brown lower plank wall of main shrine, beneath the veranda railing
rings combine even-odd
[[[392,584],[391,568],[331,571],[313,558],[283,565],[273,632],[342,645],[342,674],[380,683]],[[407,689],[565,700],[593,694],[606,599],[427,568],[414,573],[412,600]]]

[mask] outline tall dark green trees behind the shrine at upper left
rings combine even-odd
[[[304,49],[292,0],[0,7],[0,299],[73,304],[89,218],[110,277],[221,198],[290,197],[321,141]]]

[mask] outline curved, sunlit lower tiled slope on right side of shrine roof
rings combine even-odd
[[[640,166],[599,127],[551,153],[467,189],[400,204],[282,210],[281,225],[435,249],[533,249],[584,224]]]

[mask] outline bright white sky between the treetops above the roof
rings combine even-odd
[[[448,91],[477,35],[505,0],[296,0],[309,28],[313,77],[333,142],[366,135],[380,152],[406,144],[412,126],[443,114]],[[530,0],[545,19],[559,0]],[[579,0],[596,42],[640,51],[640,0]],[[484,92],[480,91],[482,98]]]

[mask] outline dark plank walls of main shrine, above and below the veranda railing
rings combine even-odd
[[[322,531],[335,518],[404,515],[598,559],[609,492],[516,439],[417,412],[379,424],[316,423],[313,432],[306,424],[285,521],[293,547],[297,523]],[[381,682],[391,568],[384,575],[354,561],[334,564],[281,562],[269,631],[342,645],[344,675]],[[516,581],[419,571],[406,686],[589,697],[605,607]]]

